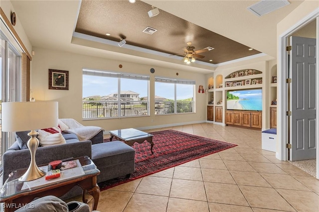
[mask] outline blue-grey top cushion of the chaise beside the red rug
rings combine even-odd
[[[122,141],[92,145],[92,160],[97,167],[120,164],[125,161],[134,160],[134,158],[135,150]]]

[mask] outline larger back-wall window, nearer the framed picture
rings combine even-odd
[[[149,84],[149,76],[83,69],[83,118],[149,115]]]

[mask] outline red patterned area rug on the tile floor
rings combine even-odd
[[[135,172],[131,174],[130,178],[115,178],[99,183],[101,191],[237,146],[237,144],[175,130],[150,133],[154,135],[154,154],[151,153],[149,142],[134,143]],[[109,139],[104,139],[104,142],[108,141]]]

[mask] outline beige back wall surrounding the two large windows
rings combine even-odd
[[[182,70],[169,70],[161,67],[150,67],[148,65],[128,63],[125,61],[114,61],[105,58],[35,47],[33,48],[33,51],[35,52],[35,55],[31,61],[32,69],[30,86],[33,97],[40,101],[58,101],[60,118],[74,118],[83,125],[97,125],[105,128],[106,130],[130,127],[151,128],[152,126],[155,128],[155,126],[162,125],[178,125],[182,123],[206,121],[207,97],[205,94],[199,94],[198,92],[196,92],[195,96],[196,113],[156,116],[151,111],[151,116],[147,117],[82,120],[82,68],[150,75],[151,105],[154,105],[155,76],[195,80],[196,91],[198,90],[199,85],[204,85],[206,87],[206,76],[204,74],[185,72]],[[123,68],[119,68],[120,64],[123,65]],[[155,74],[150,73],[150,68],[155,69]],[[69,71],[68,91],[48,89],[48,69]],[[178,73],[178,76],[176,76],[176,73]]]

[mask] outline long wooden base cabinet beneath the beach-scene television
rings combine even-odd
[[[262,112],[227,110],[225,123],[237,126],[261,128]]]

